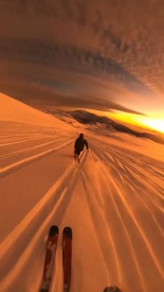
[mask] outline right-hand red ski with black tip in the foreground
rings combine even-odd
[[[72,264],[72,229],[63,229],[63,292],[69,292],[71,284],[71,264]]]

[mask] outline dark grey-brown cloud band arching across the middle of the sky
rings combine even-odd
[[[115,82],[121,82],[129,90],[153,95],[153,91],[110,58],[106,58],[86,49],[71,45],[43,43],[38,40],[1,39],[0,58],[17,62],[29,62],[47,66],[58,66],[89,75],[104,74],[113,77]]]

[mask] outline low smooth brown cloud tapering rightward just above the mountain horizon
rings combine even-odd
[[[69,88],[68,84],[66,89]],[[56,90],[56,86],[50,87],[47,84],[33,84],[28,81],[16,82],[10,80],[10,82],[0,82],[0,86],[3,86],[3,92],[7,95],[11,95],[18,100],[28,103],[29,105],[36,107],[70,107],[75,109],[95,109],[102,112],[113,112],[113,110],[127,112],[131,114],[141,114],[141,112],[134,111],[128,107],[124,107],[117,102],[113,102],[109,99],[100,98],[99,96],[90,94],[82,94],[81,92],[74,95],[70,95],[63,91],[61,93],[60,86],[64,84],[58,84],[59,88]],[[92,91],[91,91],[92,92]],[[67,93],[67,94],[66,94]]]

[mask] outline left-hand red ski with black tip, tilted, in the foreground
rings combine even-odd
[[[57,243],[58,243],[58,226],[53,225],[49,229],[49,236],[47,238],[46,255],[44,260],[44,270],[40,292],[49,292],[49,287],[51,284],[51,274],[56,256]]]

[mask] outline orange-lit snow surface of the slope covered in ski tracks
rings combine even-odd
[[[0,117],[0,291],[39,291],[51,224],[60,229],[51,291],[63,291],[64,226],[70,292],[163,291],[163,146],[75,129],[2,94]],[[90,150],[77,164],[82,129]]]

